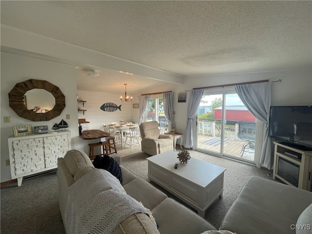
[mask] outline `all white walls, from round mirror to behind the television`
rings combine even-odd
[[[2,43],[2,41],[1,41]],[[76,84],[76,66],[53,62],[44,59],[35,59],[26,56],[8,54],[1,52],[1,117],[0,117],[0,181],[8,181],[11,179],[10,167],[5,166],[5,160],[8,156],[7,138],[13,135],[13,126],[21,124],[30,124],[32,127],[39,125],[48,125],[49,129],[55,123],[59,123],[61,119],[65,119],[66,114],[70,114],[70,119],[65,119],[69,124],[68,130],[72,135],[72,148],[88,152],[88,143],[92,140],[82,140],[78,136],[78,117],[86,118],[90,121],[90,129],[101,129],[103,123],[118,121],[122,118],[125,121],[138,122],[138,110],[133,109],[132,104],[138,103],[138,95],[133,94],[134,100],[131,103],[120,102],[118,97],[121,94],[77,91]],[[122,69],[120,69],[122,70]],[[33,122],[19,117],[10,107],[8,101],[8,93],[18,82],[34,78],[47,80],[58,86],[65,95],[66,107],[59,117],[50,121]],[[273,83],[272,88],[272,105],[312,105],[312,72],[311,70],[292,70],[292,71],[276,71],[276,72],[255,72],[241,74],[221,74],[207,76],[193,76],[183,78],[183,84],[165,83],[144,93],[155,93],[163,91],[173,91],[174,95],[174,111],[176,120],[176,131],[185,133],[187,119],[187,104],[189,93],[187,92],[187,102],[178,103],[177,94],[191,90],[196,87],[213,86],[220,84],[229,84],[236,82],[247,82],[253,80],[269,79],[271,81],[282,79],[282,82]],[[123,92],[123,90],[120,90]],[[87,112],[83,116],[78,114],[77,94],[85,99],[85,109]],[[112,112],[110,115],[99,110],[99,107],[106,102],[122,104],[121,112]],[[131,114],[130,114],[131,113]],[[3,117],[10,116],[11,122],[4,123]]]

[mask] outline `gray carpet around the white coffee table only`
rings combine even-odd
[[[203,160],[205,162],[209,162],[221,167],[226,168],[224,172],[224,191],[223,197],[217,198],[215,202],[207,209],[205,213],[205,219],[211,222],[216,229],[219,229],[221,222],[226,215],[227,211],[230,209],[231,205],[239,195],[241,189],[244,184],[248,180],[250,176],[259,176],[267,179],[272,178],[272,171],[258,169],[254,166],[250,166],[247,164],[243,164],[240,162],[235,162],[233,160],[229,160],[226,158],[211,156],[207,154],[203,154],[197,151],[188,150],[190,152],[191,157]],[[177,151],[178,153],[178,151]],[[145,180],[147,177],[147,160],[146,157],[149,155],[144,153],[136,153],[133,155],[122,157],[121,164],[136,174],[138,177],[141,177]],[[192,160],[192,158],[190,159]],[[194,210],[192,207],[187,205],[185,202],[181,201],[176,196],[170,194],[166,190],[162,189],[153,181],[151,182],[155,187],[163,191],[169,197],[176,199],[178,202],[187,206],[191,210]],[[243,221],[243,220],[242,220]]]

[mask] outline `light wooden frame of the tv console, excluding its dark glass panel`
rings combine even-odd
[[[312,191],[312,151],[304,151],[290,146],[283,145],[279,142],[274,143],[274,165],[273,165],[273,179],[278,178],[284,183]],[[298,157],[298,158],[297,158]],[[298,186],[293,185],[290,181],[278,174],[278,161],[283,158],[293,165],[299,166]]]

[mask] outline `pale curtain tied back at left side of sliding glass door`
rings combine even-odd
[[[193,118],[197,115],[200,100],[203,96],[203,89],[195,89],[191,91],[190,99],[187,106],[187,122],[184,137],[184,148],[193,147]]]

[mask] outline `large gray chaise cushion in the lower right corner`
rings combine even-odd
[[[220,230],[237,234],[294,234],[291,225],[296,224],[311,202],[311,192],[251,176],[225,215]]]

